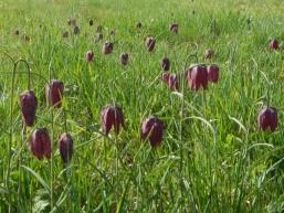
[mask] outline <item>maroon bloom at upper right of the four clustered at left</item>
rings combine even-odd
[[[64,85],[59,79],[52,79],[45,87],[46,102],[54,107],[61,107]]]

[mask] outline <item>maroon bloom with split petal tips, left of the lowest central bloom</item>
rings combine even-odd
[[[119,134],[119,126],[124,127],[124,114],[120,107],[104,106],[101,111],[102,128],[108,135],[114,126],[116,135]]]

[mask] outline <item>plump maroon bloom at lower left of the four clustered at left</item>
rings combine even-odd
[[[46,128],[35,129],[30,138],[31,152],[38,159],[51,158],[51,140]]]

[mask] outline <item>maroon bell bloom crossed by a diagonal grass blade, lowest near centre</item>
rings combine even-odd
[[[159,146],[162,139],[164,124],[156,117],[149,117],[141,124],[141,139],[149,140],[152,147]]]

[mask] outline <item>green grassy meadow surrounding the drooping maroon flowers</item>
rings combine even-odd
[[[98,25],[103,40],[95,41]],[[152,52],[145,47],[148,35],[156,39]],[[272,39],[280,50],[269,49]],[[107,40],[114,50],[105,55]],[[283,41],[282,0],[0,1],[0,213],[282,213]],[[210,60],[207,49],[214,52]],[[161,81],[162,56],[178,75],[177,90]],[[14,66],[20,58],[38,98],[32,127],[23,126],[19,107],[29,84],[27,64]],[[185,72],[193,63],[218,64],[219,82],[189,88]],[[64,83],[60,108],[46,103],[50,79]],[[107,137],[99,111],[109,104],[122,107],[125,128]],[[266,105],[277,109],[273,132],[257,125]],[[151,115],[165,127],[155,148],[140,137]],[[50,134],[50,159],[30,150],[40,127]],[[64,131],[74,140],[67,164],[57,150]]]

